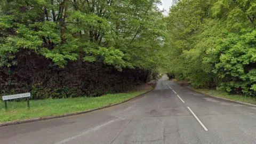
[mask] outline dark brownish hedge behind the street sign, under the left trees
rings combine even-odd
[[[0,94],[31,92],[32,99],[97,97],[131,90],[150,80],[149,70],[123,69],[101,62],[70,61],[65,68],[36,53],[16,55],[18,65],[1,67]]]

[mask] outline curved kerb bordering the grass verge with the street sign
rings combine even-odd
[[[153,90],[154,90],[154,87],[153,87],[152,90],[149,90],[149,91],[147,91],[145,93],[139,94],[139,95],[137,95],[137,96],[135,96],[133,98],[127,99],[127,100],[122,101],[122,102],[117,102],[117,103],[114,103],[114,104],[111,104],[111,105],[102,106],[102,107],[99,107],[99,108],[89,109],[89,110],[85,110],[85,111],[78,111],[78,112],[68,113],[68,114],[63,114],[63,115],[37,117],[37,118],[32,118],[32,119],[24,119],[24,120],[21,120],[21,121],[13,121],[13,122],[7,122],[7,123],[0,123],[0,127],[7,126],[7,125],[15,125],[15,124],[22,124],[22,123],[29,123],[29,122],[44,121],[44,120],[47,120],[47,119],[54,119],[54,118],[61,118],[61,117],[67,117],[67,116],[74,116],[74,115],[81,115],[81,114],[85,114],[85,113],[90,113],[90,112],[95,111],[95,110],[100,110],[100,109],[103,109],[103,108],[108,108],[108,107],[119,105],[121,103],[125,103],[127,101],[132,100],[132,99],[135,99],[135,98],[138,98],[138,97],[140,97],[142,95],[145,95],[146,93],[149,93],[149,92],[151,92]]]

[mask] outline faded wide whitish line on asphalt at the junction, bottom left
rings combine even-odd
[[[96,126],[96,127],[94,127],[93,129],[83,131],[83,132],[80,133],[80,134],[77,134],[77,135],[75,135],[75,136],[73,136],[73,137],[69,137],[69,138],[64,139],[64,140],[62,140],[62,141],[59,141],[59,142],[57,142],[57,143],[55,143],[55,144],[67,143],[67,142],[69,142],[70,140],[74,140],[74,139],[76,139],[76,138],[78,138],[78,137],[81,137],[82,135],[85,135],[85,134],[87,134],[87,133],[89,133],[89,132],[93,132],[93,131],[99,130],[101,127],[106,126],[106,125],[108,125],[108,124],[110,124],[110,123],[113,123],[113,122],[115,122],[116,120],[117,120],[117,119],[111,120],[111,121],[109,121],[109,122],[107,122],[107,123],[105,123],[105,124]]]

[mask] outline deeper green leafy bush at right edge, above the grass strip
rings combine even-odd
[[[256,95],[256,30],[241,35],[226,33],[215,49],[207,51],[206,61],[214,63],[221,78],[219,90],[235,94]]]

